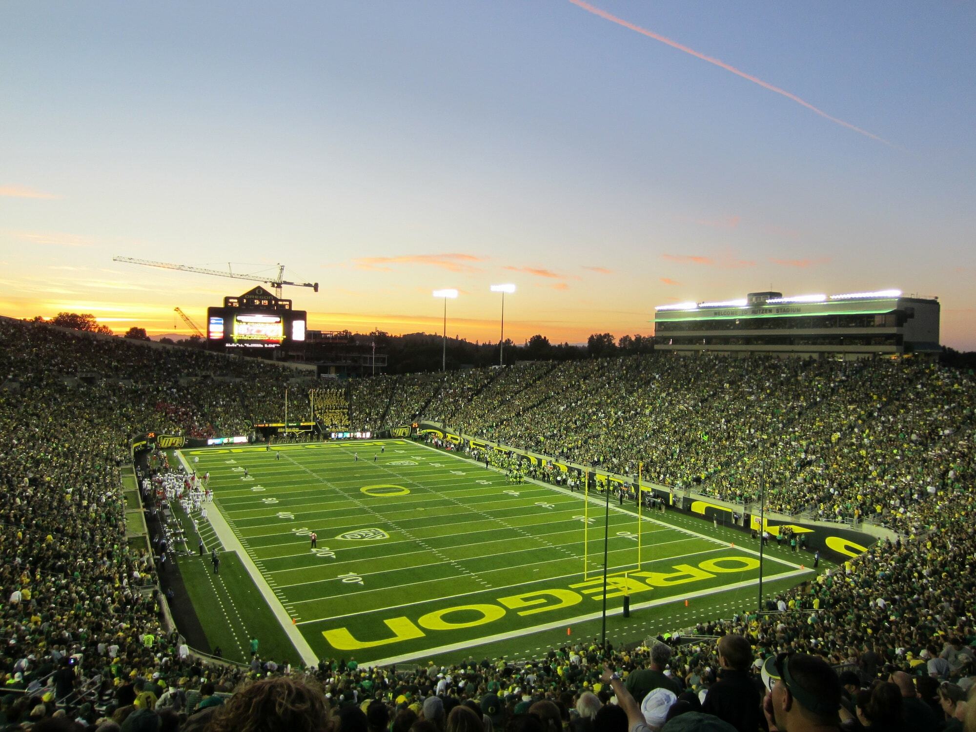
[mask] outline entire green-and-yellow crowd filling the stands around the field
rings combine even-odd
[[[384,377],[349,392],[377,426],[427,410],[743,500],[765,480],[774,506],[861,511],[906,538],[782,593],[782,611],[743,608],[636,648],[592,641],[399,670],[324,660],[266,677],[203,664],[162,628],[162,600],[145,591],[151,559],[126,541],[120,467],[146,427],[232,433],[258,405],[280,419],[293,374],[0,320],[0,729],[976,732],[972,375],[911,361],[675,361]]]

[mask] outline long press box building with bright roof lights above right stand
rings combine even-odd
[[[659,305],[654,347],[834,358],[935,354],[939,301],[882,290],[794,297],[755,292],[720,303]]]

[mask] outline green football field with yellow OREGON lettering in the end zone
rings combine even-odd
[[[194,458],[211,474],[220,512],[201,532],[218,535],[230,554],[237,543],[246,552],[229,564],[232,577],[222,566],[224,589],[214,592],[225,595],[223,614],[199,577],[209,563],[189,557],[208,637],[212,625],[232,629],[236,613],[251,616],[239,635],[263,633],[263,653],[270,644],[293,663],[299,654],[393,663],[528,653],[564,641],[567,628],[599,628],[604,506],[593,497],[511,485],[496,470],[409,440],[183,450],[185,461]],[[696,614],[727,616],[749,598],[754,607],[757,554],[732,544],[748,543],[743,535],[712,536],[703,521],[633,510],[612,501],[606,532],[617,640],[642,637],[654,620],[675,628]],[[768,587],[811,577],[799,561],[768,552]],[[630,620],[619,617],[625,594]],[[243,609],[224,607],[234,604]]]

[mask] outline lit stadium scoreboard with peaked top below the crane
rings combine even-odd
[[[223,307],[207,308],[207,346],[276,348],[305,342],[305,310],[293,310],[264,287],[237,298],[224,298]]]

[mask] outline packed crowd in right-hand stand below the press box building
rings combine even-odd
[[[428,419],[630,481],[643,464],[744,505],[765,488],[771,510],[903,534],[976,474],[976,380],[932,361],[643,354],[394,379],[359,382],[353,411],[362,395],[383,427]]]

